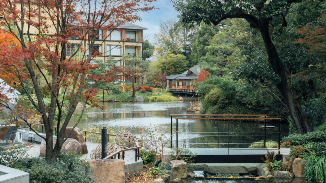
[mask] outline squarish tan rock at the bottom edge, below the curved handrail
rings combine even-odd
[[[96,183],[125,182],[125,161],[122,159],[91,160],[88,164],[92,167],[92,177],[94,177]]]

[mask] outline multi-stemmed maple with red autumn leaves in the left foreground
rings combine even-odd
[[[83,100],[86,104],[88,100],[95,101],[93,96],[97,90],[87,88],[84,82],[88,71],[96,68],[90,61],[101,54],[94,50],[99,30],[112,31],[127,21],[141,20],[138,12],[153,9],[149,7],[149,3],[153,1],[155,0],[0,0],[0,16],[4,17],[0,19],[0,24],[15,36],[22,47],[20,50],[13,50],[0,45],[3,50],[0,55],[0,73],[11,74],[16,83],[14,88],[22,88],[28,101],[36,109],[28,110],[26,103],[20,103],[10,115],[18,116],[45,140],[45,157],[48,163],[56,161],[62,144],[67,140],[64,138],[66,127],[78,102]],[[12,24],[16,27],[17,34],[11,29]],[[27,40],[24,35],[28,37]],[[76,51],[67,56],[69,36],[78,38],[78,46]],[[89,55],[86,44],[91,50]],[[81,59],[74,57],[78,51],[83,53]],[[40,78],[45,80],[45,86],[39,84]],[[95,76],[93,78],[98,79]],[[27,90],[30,86],[32,91]],[[34,93],[36,98],[32,97]],[[50,104],[44,103],[46,97],[50,98]],[[0,100],[2,107],[7,108],[7,99]],[[62,119],[65,102],[67,116]],[[96,103],[94,105],[98,106]],[[45,137],[38,134],[27,121],[35,114],[42,117]],[[54,121],[56,117],[57,120]],[[57,126],[57,139],[53,146],[54,122]]]

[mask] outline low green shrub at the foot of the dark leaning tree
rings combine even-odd
[[[281,142],[291,141],[291,146],[301,146],[311,142],[325,142],[325,132],[308,132],[306,134],[290,134],[289,136],[283,137]]]

